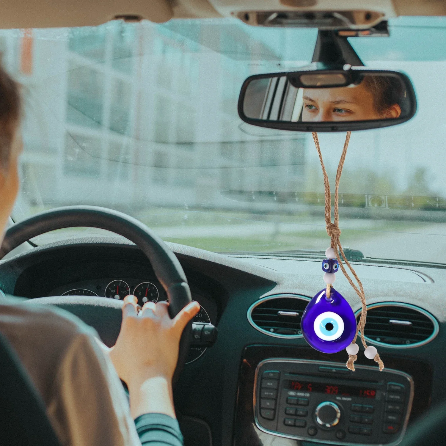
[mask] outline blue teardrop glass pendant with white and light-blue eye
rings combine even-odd
[[[344,350],[356,334],[356,319],[350,304],[334,288],[317,293],[301,319],[302,334],[311,347],[323,353]]]

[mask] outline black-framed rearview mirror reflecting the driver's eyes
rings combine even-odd
[[[409,78],[395,71],[305,70],[247,78],[238,109],[252,125],[338,132],[401,124],[417,101]]]

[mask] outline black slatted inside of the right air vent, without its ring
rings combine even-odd
[[[389,323],[391,319],[412,322],[412,326],[392,325]],[[367,310],[364,335],[377,342],[410,346],[428,339],[433,333],[434,323],[424,313],[413,308],[380,306]]]

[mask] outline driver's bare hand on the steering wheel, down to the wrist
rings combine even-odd
[[[168,307],[165,301],[146,302],[140,309],[135,296],[124,298],[121,330],[109,354],[129,389],[151,378],[172,380],[182,332],[200,305],[190,302],[173,319]]]

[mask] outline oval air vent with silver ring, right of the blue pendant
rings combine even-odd
[[[356,312],[359,321],[361,310]],[[411,348],[424,345],[438,334],[438,322],[427,311],[401,302],[382,302],[367,307],[364,337],[378,345]]]

